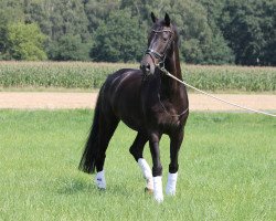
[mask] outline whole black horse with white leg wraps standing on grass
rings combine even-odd
[[[119,120],[123,120],[137,131],[129,151],[142,170],[147,181],[146,188],[153,191],[155,199],[160,202],[163,200],[163,193],[159,140],[162,134],[170,137],[171,161],[166,192],[173,196],[179,168],[178,154],[189,115],[189,102],[185,86],[162,72],[163,67],[182,80],[177,28],[171,23],[167,13],[163,20],[159,20],[151,12],[151,19],[153,25],[140,70],[117,71],[107,77],[99,91],[94,123],[79,169],[93,173],[96,168],[96,183],[98,188],[106,188],[105,154]],[[152,156],[152,172],[142,158],[147,141],[149,141]]]

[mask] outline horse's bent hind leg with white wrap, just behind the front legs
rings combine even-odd
[[[142,171],[142,176],[146,179],[146,189],[145,190],[152,192],[153,191],[152,172],[151,172],[151,169],[150,169],[148,162],[142,157],[144,147],[145,147],[147,141],[148,141],[148,137],[141,133],[138,133],[129,151],[134,156],[135,160],[138,162],[141,171]]]

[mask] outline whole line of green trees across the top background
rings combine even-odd
[[[275,0],[1,0],[0,60],[140,61],[151,11],[183,62],[276,65]]]

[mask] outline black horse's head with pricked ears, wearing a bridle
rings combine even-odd
[[[140,69],[146,75],[153,74],[158,65],[164,64],[166,57],[172,53],[172,43],[178,38],[176,28],[171,24],[167,13],[163,20],[159,20],[151,12],[151,19],[153,25],[148,38],[148,50],[140,64]]]

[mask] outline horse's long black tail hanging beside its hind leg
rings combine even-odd
[[[87,173],[93,173],[95,171],[96,159],[99,151],[99,141],[98,141],[99,114],[100,114],[100,97],[97,98],[93,125],[91,127],[89,136],[87,138],[83,156],[78,165],[78,169]]]

